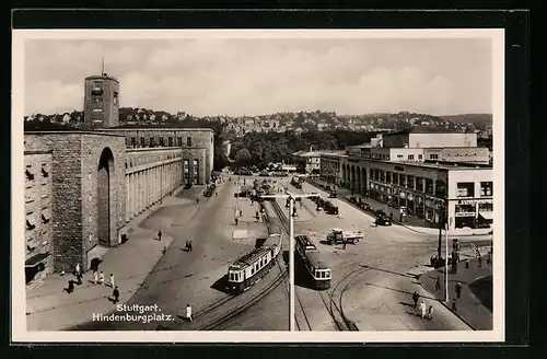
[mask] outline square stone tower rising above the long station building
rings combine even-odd
[[[119,124],[119,82],[103,71],[85,78],[83,117],[86,128],[108,128]]]

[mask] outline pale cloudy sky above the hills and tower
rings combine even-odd
[[[488,38],[26,39],[25,114],[83,109],[84,78],[121,107],[175,114],[492,112]]]

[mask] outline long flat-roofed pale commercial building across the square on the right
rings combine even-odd
[[[374,147],[322,154],[321,176],[356,195],[404,207],[431,227],[442,218],[450,231],[488,232],[493,223],[489,150],[473,147],[476,134],[419,134],[419,143],[412,137],[389,134]],[[451,147],[441,147],[444,141]],[[404,147],[380,147],[386,144]]]

